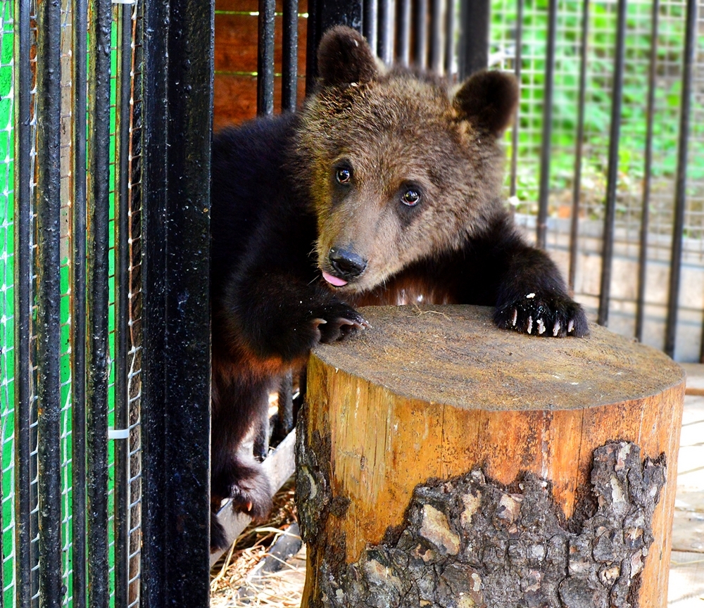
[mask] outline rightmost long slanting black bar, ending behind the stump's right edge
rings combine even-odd
[[[674,356],[677,338],[677,303],[682,265],[682,238],[687,188],[687,143],[691,113],[692,78],[696,60],[697,1],[687,0],[686,34],[684,39],[684,66],[682,69],[682,96],[679,108],[679,142],[677,145],[677,176],[674,191],[674,221],[672,226],[672,257],[670,258],[670,289],[667,294],[667,324],[665,326],[665,354]]]

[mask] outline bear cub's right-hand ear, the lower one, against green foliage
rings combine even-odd
[[[465,80],[452,103],[460,118],[498,137],[513,119],[518,85],[506,72],[477,72]]]

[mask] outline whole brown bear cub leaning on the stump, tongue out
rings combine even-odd
[[[384,72],[344,27],[325,34],[318,63],[301,112],[213,141],[213,506],[232,496],[253,517],[269,486],[237,448],[282,374],[365,326],[353,307],[493,305],[506,329],[588,331],[503,205],[513,77],[482,72],[449,94],[432,75]],[[224,542],[213,520],[211,545]]]

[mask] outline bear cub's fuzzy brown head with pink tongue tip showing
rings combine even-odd
[[[503,213],[499,138],[517,103],[513,76],[480,72],[451,92],[433,75],[385,71],[347,27],[325,34],[318,65],[297,147],[329,284],[373,289]]]

